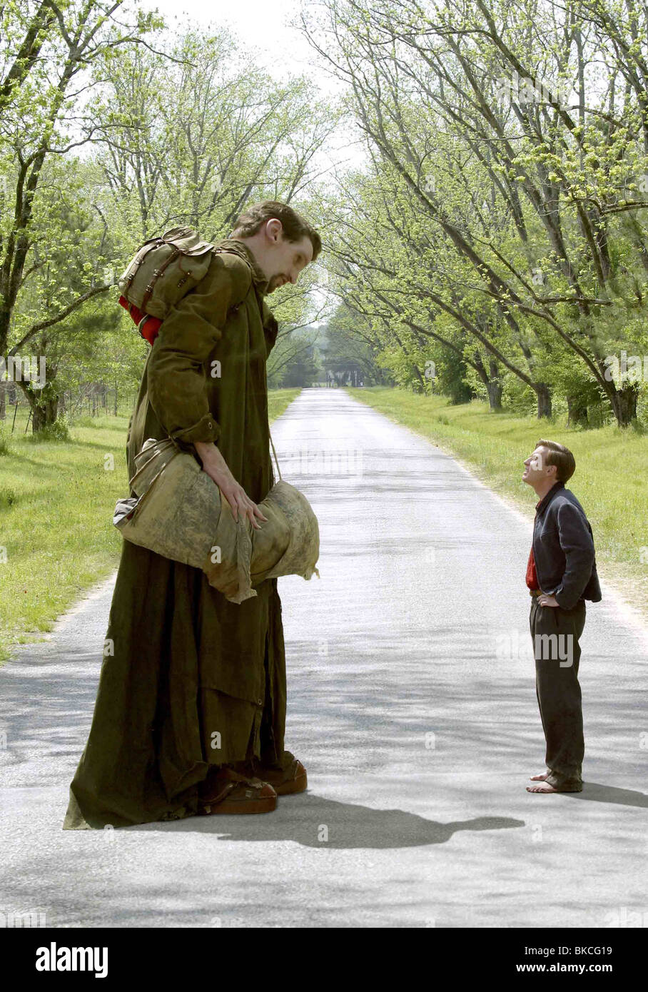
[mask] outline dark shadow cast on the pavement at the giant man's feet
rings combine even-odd
[[[261,816],[192,816],[173,823],[146,823],[122,829],[128,833],[213,833],[222,840],[292,840],[305,847],[350,850],[443,844],[458,830],[503,830],[524,825],[524,820],[510,816],[476,816],[441,823],[403,809],[372,809],[306,794],[280,798],[274,812]]]

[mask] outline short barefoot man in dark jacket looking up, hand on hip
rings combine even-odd
[[[529,793],[583,791],[583,708],[579,684],[585,599],[601,599],[594,543],[583,507],[565,483],[576,470],[569,448],[539,440],[522,479],[539,496],[527,565],[536,694],[547,773],[532,776]]]

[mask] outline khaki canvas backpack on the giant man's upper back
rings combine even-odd
[[[163,320],[206,276],[219,250],[192,227],[172,227],[138,248],[118,280],[119,291],[142,313]]]

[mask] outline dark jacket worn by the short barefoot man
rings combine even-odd
[[[556,482],[538,504],[533,557],[540,588],[563,609],[573,609],[580,599],[597,603],[602,598],[591,528],[564,482]]]

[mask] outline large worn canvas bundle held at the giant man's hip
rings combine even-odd
[[[258,504],[268,520],[257,530],[240,513],[234,520],[218,486],[172,438],[149,438],[135,464],[136,497],[118,500],[113,517],[127,541],[201,568],[234,603],[256,596],[266,578],[320,576],[318,518],[295,486],[275,483]]]

